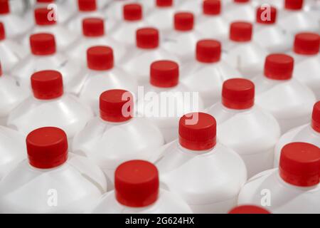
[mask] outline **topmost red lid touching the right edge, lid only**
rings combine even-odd
[[[316,33],[298,33],[294,38],[294,52],[300,55],[319,53],[320,36]]]

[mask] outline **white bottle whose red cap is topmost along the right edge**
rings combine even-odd
[[[320,100],[320,36],[316,33],[298,33],[294,39],[293,77],[314,91]]]

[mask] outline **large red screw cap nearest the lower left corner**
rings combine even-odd
[[[58,167],[68,160],[67,135],[60,128],[33,130],[26,137],[30,165],[39,169]]]

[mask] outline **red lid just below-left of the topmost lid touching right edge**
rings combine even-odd
[[[265,58],[265,76],[274,80],[292,78],[294,58],[285,54],[271,54]]]

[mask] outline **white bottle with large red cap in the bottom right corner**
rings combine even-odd
[[[252,177],[238,204],[256,204],[274,214],[320,213],[320,148],[292,142],[282,148],[279,169]]]

